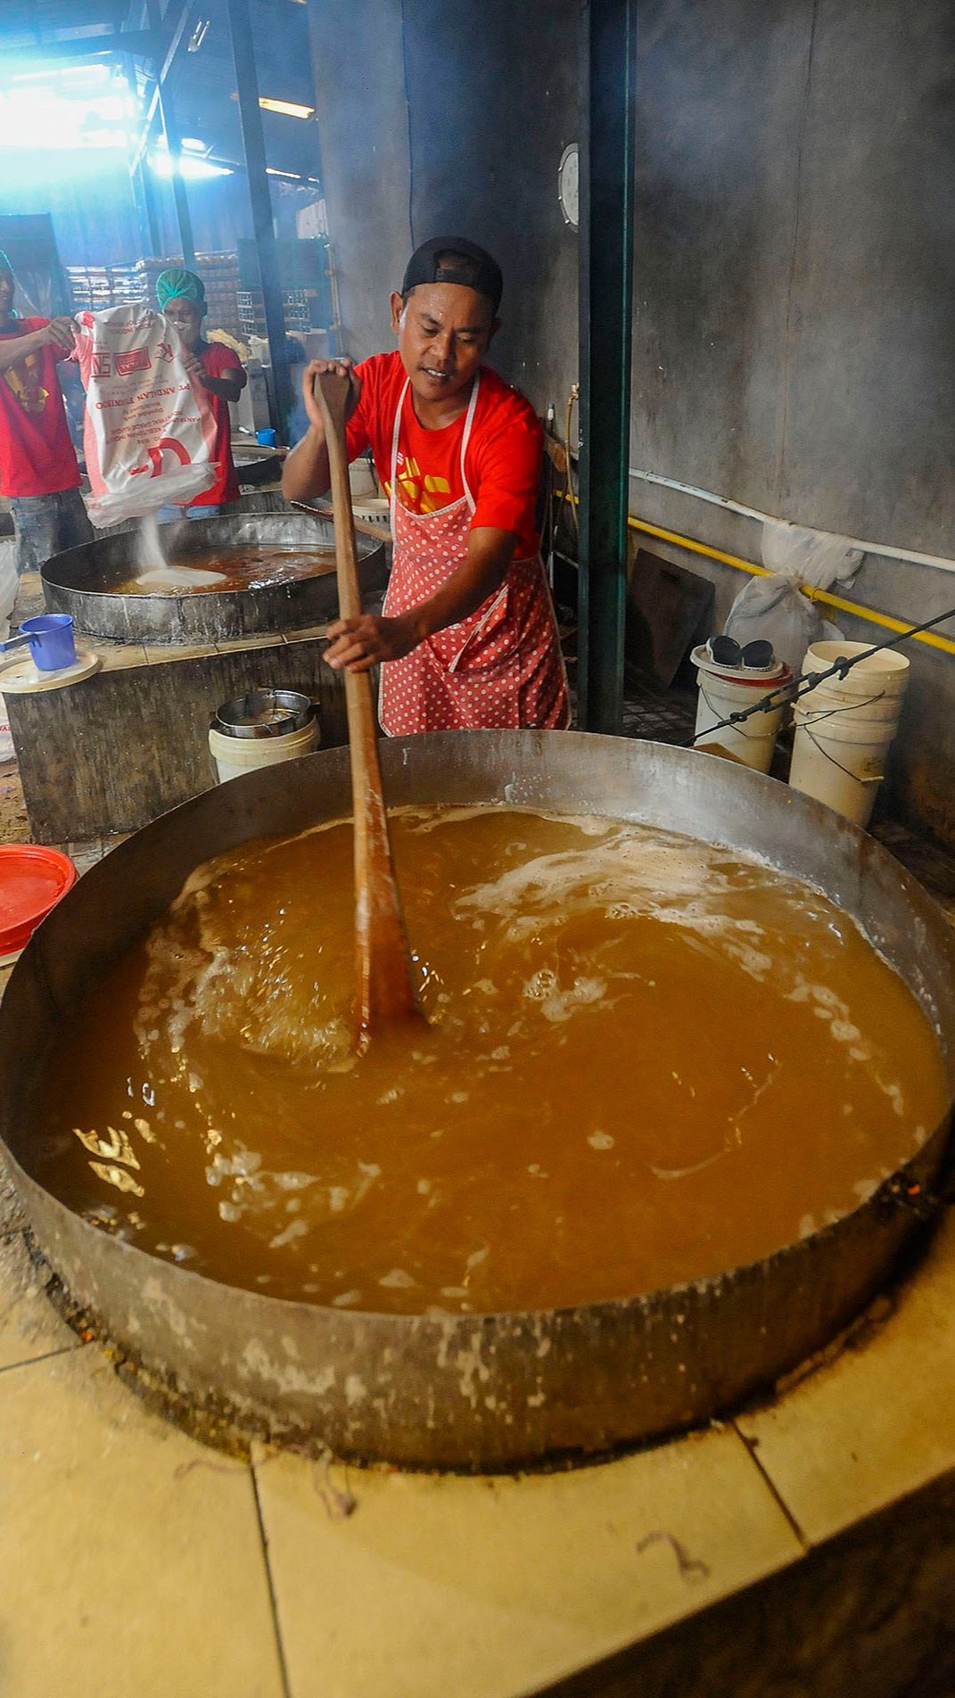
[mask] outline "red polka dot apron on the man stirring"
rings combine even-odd
[[[411,513],[396,496],[398,436],[410,382],[401,391],[391,441],[394,559],[384,598],[386,615],[406,613],[427,601],[464,562],[476,506],[464,455],[479,382],[478,375],[461,438],[464,494],[437,513]],[[457,625],[427,637],[401,661],[384,662],[379,720],[389,737],[447,730],[566,728],[568,679],[540,555],[511,560],[496,596]]]

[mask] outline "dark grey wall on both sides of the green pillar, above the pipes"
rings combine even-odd
[[[494,358],[576,377],[574,0],[313,5],[347,341],[389,345],[411,241],[498,253]],[[634,464],[947,554],[955,498],[952,0],[644,0]]]

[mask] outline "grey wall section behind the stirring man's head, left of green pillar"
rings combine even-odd
[[[471,236],[505,272],[491,363],[540,411],[576,375],[576,239],[557,161],[576,132],[574,0],[311,5],[345,345],[393,345],[411,246]],[[403,29],[404,25],[404,29]]]

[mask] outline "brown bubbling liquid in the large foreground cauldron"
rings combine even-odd
[[[756,859],[505,808],[399,813],[394,852],[410,1051],[350,1051],[350,827],[245,846],[63,1032],[44,1185],[274,1296],[557,1307],[765,1257],[941,1119],[909,990]]]

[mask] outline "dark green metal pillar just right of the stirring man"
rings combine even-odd
[[[637,0],[581,0],[579,672],[585,730],[619,732],[630,457]]]

